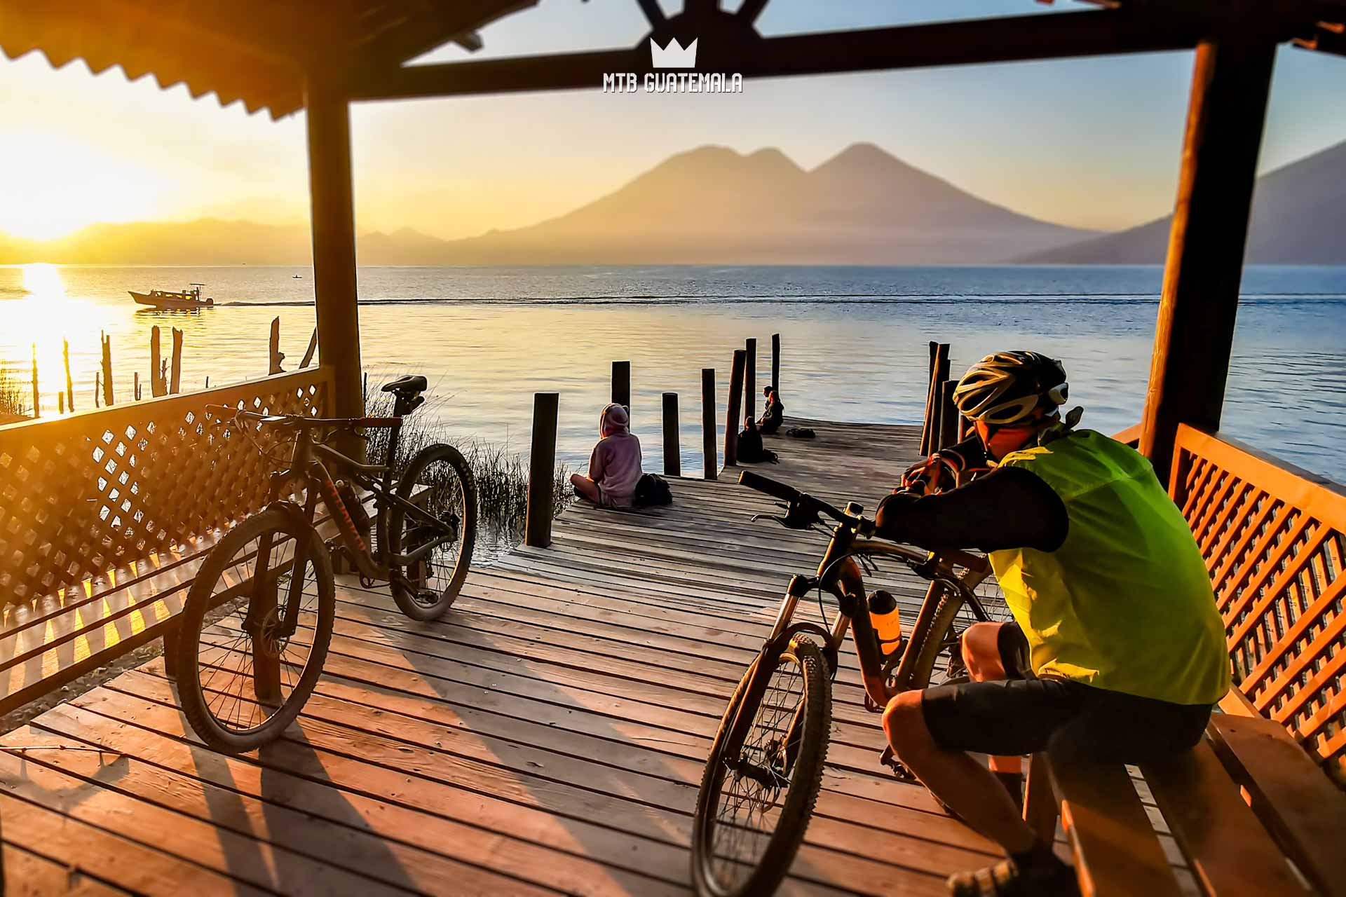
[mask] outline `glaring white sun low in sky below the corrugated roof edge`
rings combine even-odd
[[[105,147],[43,130],[0,130],[0,234],[65,237],[96,222],[152,218],[162,179]]]

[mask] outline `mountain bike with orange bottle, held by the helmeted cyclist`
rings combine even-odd
[[[783,516],[756,514],[754,520],[826,531],[821,514],[836,520],[836,527],[817,573],[790,578],[771,635],[720,719],[692,827],[692,881],[703,897],[770,894],[789,870],[822,785],[832,679],[848,628],[860,660],[865,709],[882,713],[895,694],[940,683],[933,679],[965,678],[958,648],[962,631],[992,619],[975,592],[989,573],[984,557],[875,541],[874,520],[855,502],[841,511],[752,472],[744,472],[739,483],[785,502]],[[911,631],[887,656],[864,589],[864,572],[874,570],[880,558],[899,561],[930,581]],[[800,600],[814,589],[820,607],[822,592],[837,600],[830,628],[794,620]],[[890,749],[880,763],[914,780]]]

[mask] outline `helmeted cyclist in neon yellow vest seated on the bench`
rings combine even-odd
[[[899,694],[883,715],[902,763],[1010,855],[950,878],[954,894],[1077,893],[1022,818],[1022,756],[1139,763],[1187,750],[1230,685],[1224,623],[1180,511],[1135,449],[1074,430],[1079,409],[1061,418],[1066,390],[1061,363],[1036,352],[981,359],[954,403],[993,469],[937,495],[894,492],[876,516],[898,542],[988,551],[1014,613],[964,632],[970,682]],[[983,465],[969,446],[954,468]],[[991,754],[993,772],[973,753]]]

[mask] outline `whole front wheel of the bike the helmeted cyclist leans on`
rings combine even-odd
[[[804,841],[822,785],[832,719],[822,652],[797,639],[758,706],[744,707],[752,714],[742,754],[752,775],[744,775],[725,765],[724,749],[751,675],[750,668],[720,719],[696,799],[692,882],[703,897],[773,893]]]

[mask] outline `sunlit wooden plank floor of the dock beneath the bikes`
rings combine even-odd
[[[763,472],[837,504],[872,512],[915,457],[911,428],[810,425],[812,442],[771,440]],[[12,893],[686,893],[719,715],[825,542],[750,524],[771,502],[735,479],[674,480],[647,514],[571,508],[551,549],[472,570],[437,623],[341,578],[318,691],[260,753],[205,749],[162,660],[38,717],[3,742],[39,749],[0,753]],[[945,893],[996,851],[880,772],[861,694],[848,652],[783,893]]]

